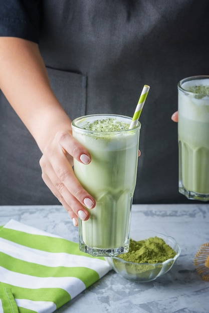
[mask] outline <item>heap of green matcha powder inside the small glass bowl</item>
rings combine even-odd
[[[130,238],[129,251],[118,257],[133,263],[161,263],[173,258],[176,252],[157,236],[135,241]]]

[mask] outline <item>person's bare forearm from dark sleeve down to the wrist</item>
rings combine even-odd
[[[71,120],[54,95],[38,44],[0,37],[0,88],[43,151]]]

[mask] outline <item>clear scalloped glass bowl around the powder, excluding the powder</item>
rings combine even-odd
[[[128,262],[116,256],[106,257],[106,260],[118,274],[122,275],[126,279],[139,282],[154,280],[157,277],[165,274],[173,266],[181,251],[178,243],[171,236],[166,236],[162,233],[157,233],[152,230],[130,231],[130,238],[136,241],[155,236],[162,238],[165,243],[167,243],[176,252],[173,258],[169,258],[164,262],[154,264]]]

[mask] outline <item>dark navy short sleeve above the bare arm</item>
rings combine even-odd
[[[41,0],[0,0],[0,36],[39,42]]]

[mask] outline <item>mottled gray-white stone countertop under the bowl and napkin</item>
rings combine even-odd
[[[0,224],[11,218],[78,241],[62,206],[0,206]],[[151,282],[137,283],[111,270],[57,313],[208,313],[209,281],[202,281],[193,257],[209,242],[209,204],[137,204],[132,207],[131,229],[150,229],[170,235],[181,254],[170,271]]]

